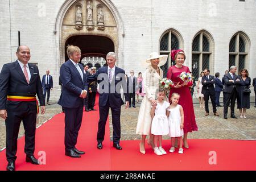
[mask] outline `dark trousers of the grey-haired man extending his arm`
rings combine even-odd
[[[112,112],[112,125],[113,125],[113,143],[119,144],[121,138],[121,124],[120,124],[120,114],[121,107],[111,107],[109,102],[106,106],[100,106],[100,120],[98,121],[98,133],[97,142],[100,143],[104,140],[106,121],[109,116],[109,108]]]

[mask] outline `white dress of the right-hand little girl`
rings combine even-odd
[[[169,128],[170,128],[170,137],[181,137],[184,132],[183,129],[180,129],[181,117],[180,117],[180,105],[178,104],[175,108],[168,108],[170,115],[168,118]]]

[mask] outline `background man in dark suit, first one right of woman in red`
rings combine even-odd
[[[214,76],[210,75],[209,69],[204,69],[204,76],[202,77],[202,93],[204,94],[204,104],[205,104],[205,116],[209,115],[209,96],[210,101],[212,101],[212,109],[214,115],[218,115],[216,104],[215,104],[215,90],[214,90],[215,79]]]

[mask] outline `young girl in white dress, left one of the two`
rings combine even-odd
[[[157,105],[151,107],[151,117],[153,118],[151,124],[151,134],[154,135],[154,152],[156,155],[166,154],[166,151],[162,147],[162,136],[168,135],[169,133],[166,109],[170,106],[170,103],[164,101],[164,97],[164,90],[159,88],[156,100]]]

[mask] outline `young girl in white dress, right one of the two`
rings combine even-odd
[[[172,142],[172,147],[170,148],[170,152],[175,151],[175,138],[179,140],[180,149],[179,154],[183,154],[183,140],[182,136],[184,134],[183,127],[184,127],[184,113],[183,108],[181,105],[178,104],[180,99],[180,95],[178,93],[172,93],[171,96],[171,105],[167,109],[167,117],[169,122],[170,128],[170,137]]]

